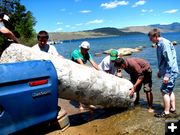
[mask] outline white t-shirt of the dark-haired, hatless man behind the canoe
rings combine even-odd
[[[33,50],[38,50],[38,51],[43,51],[43,52],[47,52],[50,53],[52,55],[56,55],[58,56],[59,53],[57,52],[56,48],[52,45],[46,44],[44,48],[40,48],[38,44],[34,45],[32,47]]]

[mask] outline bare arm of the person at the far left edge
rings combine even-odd
[[[19,42],[15,35],[6,27],[1,28],[0,32],[3,33],[7,38],[14,40],[16,43]]]

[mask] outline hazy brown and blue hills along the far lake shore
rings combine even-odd
[[[158,28],[163,33],[180,32],[180,23],[175,22],[167,25],[153,24],[148,26],[132,26],[121,29],[113,28],[113,27],[105,27],[105,28],[98,28],[98,29],[78,31],[78,32],[52,32],[49,33],[49,35],[50,35],[50,39],[53,41],[72,40],[72,39],[81,39],[81,38],[123,36],[129,34],[147,34],[153,28]]]

